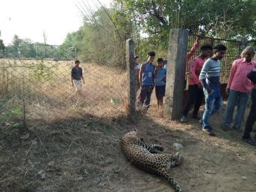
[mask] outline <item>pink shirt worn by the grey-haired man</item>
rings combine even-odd
[[[254,88],[254,84],[247,78],[247,74],[254,69],[256,62],[251,60],[247,63],[244,58],[233,62],[227,88],[233,91],[248,93]]]

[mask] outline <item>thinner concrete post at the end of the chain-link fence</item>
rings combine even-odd
[[[133,117],[135,115],[135,102],[136,102],[136,91],[135,91],[135,61],[134,56],[134,42],[132,39],[126,40],[126,64],[127,64],[127,110],[128,115]]]

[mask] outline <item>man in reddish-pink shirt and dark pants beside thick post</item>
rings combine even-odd
[[[202,90],[202,85],[199,80],[199,74],[201,73],[205,60],[212,54],[212,49],[210,44],[203,45],[200,48],[201,54],[195,57],[190,63],[190,85],[188,87],[190,98],[183,111],[182,118],[180,119],[181,122],[187,121],[188,112],[194,103],[196,104],[194,105],[193,118],[201,119],[198,116],[198,111],[204,99],[204,91]]]

